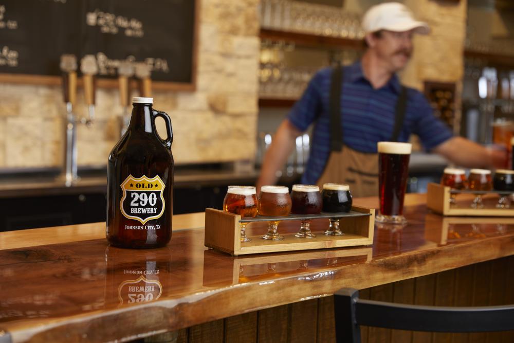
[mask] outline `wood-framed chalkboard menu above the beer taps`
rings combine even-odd
[[[157,83],[194,85],[196,10],[195,0],[0,0],[0,79],[60,76],[70,53],[94,55],[99,78],[128,60]]]

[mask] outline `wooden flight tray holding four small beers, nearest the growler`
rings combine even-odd
[[[339,218],[342,236],[327,236],[329,218]],[[316,237],[298,238],[295,233],[301,220],[311,220],[310,228]],[[277,221],[281,241],[261,238],[268,231],[267,222]],[[250,242],[241,242],[240,223],[246,222],[246,235]],[[213,208],[205,210],[205,246],[227,252],[233,256],[263,254],[266,252],[339,248],[373,244],[375,209],[353,206],[348,213],[320,213],[313,215],[290,214],[283,217],[256,216],[241,219],[241,215]]]

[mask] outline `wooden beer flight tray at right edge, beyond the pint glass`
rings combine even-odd
[[[511,208],[496,208],[499,197],[512,192],[454,190],[435,183],[428,184],[427,206],[435,213],[453,216],[514,216],[514,202]],[[450,205],[450,195],[456,194],[455,205]],[[474,194],[481,194],[484,208],[472,208]]]

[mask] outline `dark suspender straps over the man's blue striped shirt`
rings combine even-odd
[[[341,151],[343,148],[343,133],[341,122],[341,87],[343,80],[343,68],[340,64],[334,67],[331,75],[330,99],[329,99],[329,115],[330,115],[330,148],[331,151]],[[403,120],[405,118],[405,110],[407,107],[407,88],[401,86],[400,95],[396,101],[396,114],[393,135],[391,141],[398,140]]]

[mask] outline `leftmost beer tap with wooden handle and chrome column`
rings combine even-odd
[[[78,179],[77,176],[77,123],[73,106],[77,100],[77,58],[75,55],[61,56],[63,72],[63,94],[66,103],[64,180],[67,187]]]

